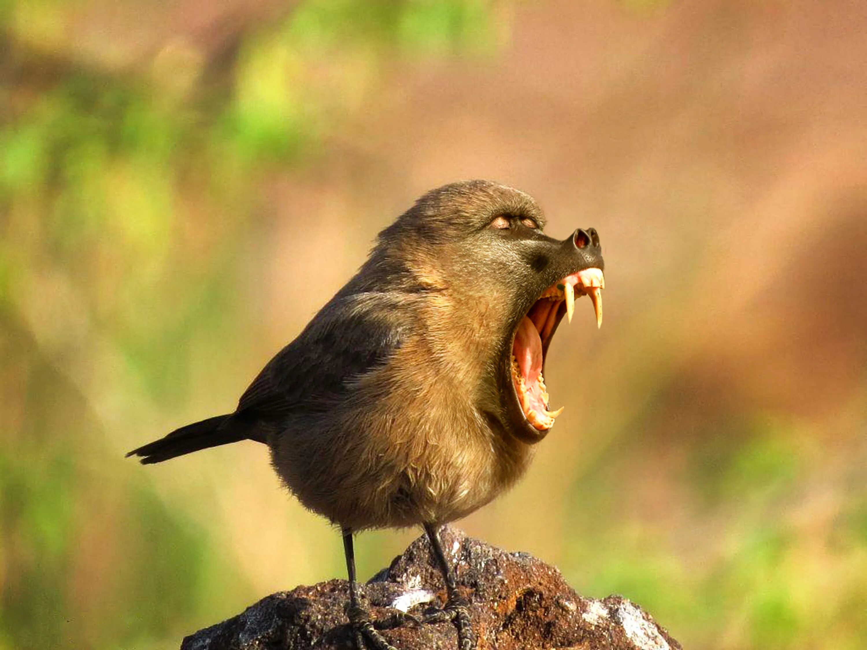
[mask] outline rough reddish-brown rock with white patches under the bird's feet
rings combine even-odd
[[[577,595],[557,569],[526,553],[506,553],[460,530],[441,532],[461,593],[470,601],[479,650],[681,650],[649,614],[621,596]],[[446,589],[421,536],[363,587],[375,621],[396,611],[439,608]],[[352,647],[345,580],[270,595],[243,614],[186,637],[181,650],[331,650]],[[411,622],[382,631],[400,650],[453,650],[451,623]]]

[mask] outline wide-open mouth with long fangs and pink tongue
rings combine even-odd
[[[524,417],[537,431],[547,431],[563,406],[549,411],[548,391],[542,369],[545,354],[557,325],[566,315],[571,322],[575,299],[590,296],[596,312],[596,326],[602,327],[602,289],[605,278],[601,269],[584,269],[564,277],[545,289],[521,319],[512,343],[512,385]]]

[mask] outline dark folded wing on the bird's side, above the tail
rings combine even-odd
[[[333,406],[353,380],[384,365],[401,347],[408,314],[389,294],[338,294],[268,362],[241,396],[238,413],[278,421]]]

